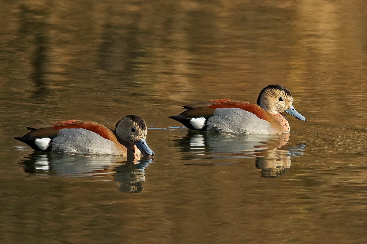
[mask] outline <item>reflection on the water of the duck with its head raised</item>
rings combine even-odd
[[[183,159],[256,158],[255,165],[261,169],[262,177],[277,177],[290,168],[291,157],[304,151],[304,143],[288,145],[288,140],[289,134],[240,135],[188,131],[177,141],[179,148],[185,152]]]

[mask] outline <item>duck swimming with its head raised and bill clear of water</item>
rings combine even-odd
[[[264,87],[258,95],[257,104],[224,98],[182,107],[186,109],[184,112],[169,118],[189,130],[280,135],[290,132],[285,113],[306,121],[295,110],[290,91],[281,85]]]

